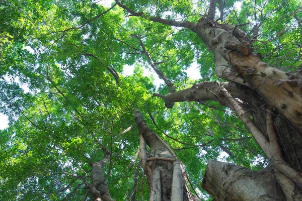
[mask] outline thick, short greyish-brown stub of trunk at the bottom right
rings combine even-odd
[[[209,159],[201,187],[216,200],[284,200],[274,172]]]

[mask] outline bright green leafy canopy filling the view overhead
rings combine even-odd
[[[146,16],[197,23],[207,5],[195,2],[122,1]],[[236,2],[241,8],[235,8]],[[255,10],[252,1],[226,1],[224,22],[240,24],[250,36],[257,23],[256,51],[270,65],[295,70],[301,66],[302,39],[301,22],[294,15],[302,18],[301,3],[283,2],[257,1]],[[0,3],[0,112],[10,120],[10,127],[0,131],[1,200],[83,200],[86,182],[91,182],[89,163],[103,158],[102,146],[113,153],[112,168],[108,163],[103,169],[104,175],[110,169],[111,196],[129,200],[137,179],[136,200],[147,200],[148,186],[137,159],[138,130],[122,133],[134,124],[134,109],[174,149],[194,189],[202,191],[209,158],[252,169],[267,164],[230,109],[205,102],[177,103],[167,110],[162,99],[152,97],[169,90],[144,75],[153,69],[133,34],[154,62],[166,61],[158,69],[182,90],[218,79],[214,55],[195,33],[126,17],[117,6],[89,22],[107,9],[95,1]],[[200,80],[184,71],[194,62]],[[134,71],[123,76],[126,64]],[[107,68],[119,75],[117,84]]]

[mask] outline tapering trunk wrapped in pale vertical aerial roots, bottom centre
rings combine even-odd
[[[134,121],[139,130],[139,161],[147,176],[150,200],[199,200],[188,190],[183,176],[186,173],[171,148],[149,129],[140,112],[135,112]],[[148,153],[145,142],[150,147]]]

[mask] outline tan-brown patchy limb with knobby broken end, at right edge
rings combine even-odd
[[[302,75],[293,76],[262,62],[247,43],[226,45],[231,63],[251,87],[290,122],[302,129]]]

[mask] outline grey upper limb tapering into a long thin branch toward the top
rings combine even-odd
[[[118,6],[125,9],[132,16],[143,17],[153,22],[159,22],[162,24],[184,27],[195,32],[201,40],[204,42],[208,50],[213,51],[215,55],[215,72],[219,77],[226,78],[230,81],[235,81],[241,84],[245,84],[242,78],[235,76],[231,68],[228,52],[223,51],[224,45],[239,43],[240,41],[247,41],[247,36],[239,29],[236,29],[233,25],[220,25],[217,22],[213,22],[208,19],[200,19],[198,24],[192,22],[178,22],[175,20],[166,20],[157,17],[145,16],[143,13],[134,12],[125,5],[121,4],[118,0],[115,0]],[[234,28],[231,31],[231,27]]]

